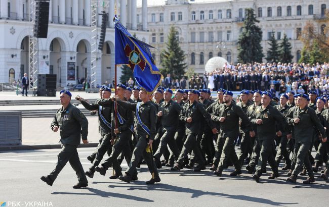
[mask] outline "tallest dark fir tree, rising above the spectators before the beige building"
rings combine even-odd
[[[237,42],[238,61],[240,63],[261,63],[264,57],[261,45],[263,33],[261,28],[256,25],[259,21],[256,19],[254,10],[245,9],[245,13],[242,32]]]

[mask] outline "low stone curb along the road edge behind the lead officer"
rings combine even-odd
[[[88,143],[88,144],[79,144],[78,148],[85,147],[97,147],[98,142]],[[8,145],[1,146],[0,151],[11,151],[11,150],[35,150],[35,149],[60,149],[61,144],[40,144],[40,145]]]

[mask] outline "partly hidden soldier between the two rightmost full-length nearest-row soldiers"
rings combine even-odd
[[[274,106],[284,117],[286,117],[287,112],[289,110],[289,106],[286,105],[287,101],[289,100],[289,96],[287,94],[280,95],[280,105]],[[288,139],[286,134],[283,134],[283,129],[280,128],[278,123],[276,124],[279,131],[277,132],[276,136],[279,137],[279,148],[276,153],[275,162],[276,165],[279,166],[280,161],[284,159],[285,165],[282,170],[287,170],[291,168],[291,160],[288,151],[286,150]]]

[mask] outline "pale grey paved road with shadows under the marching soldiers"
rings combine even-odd
[[[92,150],[78,148],[85,170],[90,166],[86,157]],[[142,165],[137,182],[109,180],[112,172],[107,171],[105,177],[95,174],[94,179],[89,179],[88,188],[73,189],[77,179],[67,165],[51,187],[39,178],[53,170],[58,151],[0,152],[0,201],[20,201],[21,206],[33,201],[52,202],[53,206],[327,206],[328,201],[329,183],[318,177],[315,184],[304,185],[302,180],[287,184],[286,176],[268,180],[265,174],[261,182],[256,183],[246,171],[242,176],[230,177],[231,168],[221,178],[209,171],[171,172],[165,168],[159,171],[161,182],[147,186],[145,181],[150,174]]]

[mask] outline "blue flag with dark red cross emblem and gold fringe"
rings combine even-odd
[[[118,19],[114,23],[115,64],[129,65],[137,84],[153,92],[161,83],[161,74],[153,62],[152,46],[133,37]]]

